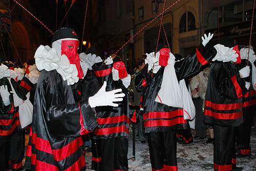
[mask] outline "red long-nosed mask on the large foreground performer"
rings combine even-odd
[[[80,60],[78,55],[78,40],[62,40],[61,41],[61,55],[66,55],[69,59],[70,64],[75,64],[79,79],[82,79],[83,71],[80,66]]]

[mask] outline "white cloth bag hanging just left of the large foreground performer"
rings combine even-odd
[[[29,101],[29,99],[24,101],[24,103],[19,106],[18,113],[19,113],[20,126],[22,127],[22,129],[32,123],[33,105]]]

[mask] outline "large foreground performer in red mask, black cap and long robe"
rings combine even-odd
[[[54,32],[52,48],[40,45],[35,63],[41,74],[35,91],[31,170],[85,170],[81,135],[97,126],[96,106],[117,106],[121,90],[105,91],[106,83],[88,100],[76,102],[72,86],[84,73],[78,37],[73,29]]]

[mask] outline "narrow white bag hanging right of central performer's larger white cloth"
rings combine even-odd
[[[190,128],[195,129],[195,125],[193,126],[193,124],[195,124],[195,123],[193,123],[194,122],[193,119],[196,116],[196,108],[195,108],[195,105],[194,105],[192,97],[191,97],[190,89],[189,89],[189,87],[188,87],[189,90],[187,89],[184,79],[180,81],[180,87],[181,87],[182,95],[183,95],[184,119],[191,120],[192,122],[191,122],[191,125],[189,122],[189,126],[190,126]]]

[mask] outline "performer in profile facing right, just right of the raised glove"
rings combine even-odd
[[[241,63],[236,40],[223,38],[214,47],[217,55],[210,67],[205,97],[204,123],[214,125],[215,170],[242,170],[236,166],[234,127],[243,123],[242,97],[247,92],[245,79],[249,66],[238,69]]]

